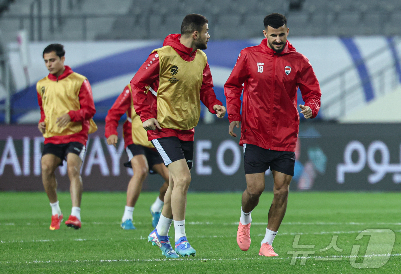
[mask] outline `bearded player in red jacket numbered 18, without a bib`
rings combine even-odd
[[[259,255],[278,256],[271,244],[286,213],[288,190],[294,176],[299,129],[297,90],[299,87],[305,102],[300,108],[306,119],[318,114],[321,92],[309,60],[287,41],[286,17],[273,13],[263,22],[265,39],[258,46],[241,50],[224,90],[230,135],[237,136],[233,129],[241,121],[239,144],[244,147],[247,181],[237,243],[241,250],[249,249],[251,212],[265,189],[265,171],[270,167],[274,197]]]

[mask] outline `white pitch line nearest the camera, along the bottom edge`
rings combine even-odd
[[[374,255],[364,255],[364,256],[359,256],[359,257],[387,257],[387,256],[391,256],[391,257],[399,257],[401,256],[400,253],[397,254],[374,254]],[[358,256],[350,256],[350,255],[346,255],[346,256],[300,256],[300,257],[296,257],[297,259],[302,259],[302,258],[306,258],[306,259],[321,259],[321,258],[356,258]],[[269,257],[269,258],[265,258],[263,256],[261,257],[254,257],[254,258],[220,258],[220,259],[209,259],[209,258],[176,258],[176,259],[168,259],[168,258],[164,258],[164,259],[132,259],[132,260],[127,260],[127,259],[120,259],[120,260],[70,260],[70,261],[38,261],[38,260],[34,260],[32,262],[0,262],[0,264],[40,264],[40,263],[45,263],[45,264],[49,264],[49,263],[66,263],[66,262],[164,262],[164,261],[241,261],[241,260],[291,260],[293,257]]]

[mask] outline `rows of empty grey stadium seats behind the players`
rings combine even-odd
[[[5,40],[15,40],[17,30],[30,28],[32,1],[0,2]],[[189,13],[207,16],[217,39],[261,36],[263,17],[271,12],[288,17],[292,36],[401,34],[399,0],[61,0],[63,17],[55,32],[49,31],[49,1],[41,0],[42,40],[161,39],[179,32]],[[35,34],[34,40],[38,38]]]

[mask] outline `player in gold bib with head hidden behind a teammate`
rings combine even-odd
[[[149,94],[150,96],[152,93]],[[122,218],[121,227],[130,230],[135,229],[132,224],[132,215],[136,201],[142,190],[142,183],[150,174],[159,173],[164,179],[164,184],[160,187],[160,194],[156,201],[150,206],[152,214],[152,226],[156,228],[163,208],[164,194],[168,188],[168,169],[163,163],[154,146],[148,141],[146,130],[142,127],[142,121],[136,114],[132,105],[131,87],[127,85],[124,91],[117,97],[113,106],[106,116],[105,136],[108,145],[116,147],[117,127],[121,116],[127,113],[127,121],[123,125],[124,146],[128,154],[128,163],[124,165],[131,167],[134,171],[127,189],[127,205]]]

